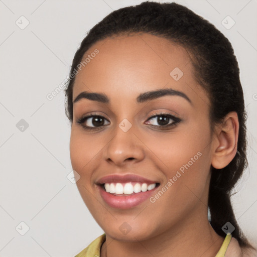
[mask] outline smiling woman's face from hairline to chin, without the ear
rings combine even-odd
[[[188,52],[143,33],[99,41],[82,61],[88,55],[73,88],[70,155],[94,219],[109,236],[132,241],[179,231],[199,215],[207,219],[210,101]],[[112,174],[138,175],[158,187],[135,193],[141,200],[130,205],[118,198],[132,196],[102,194],[97,182]]]

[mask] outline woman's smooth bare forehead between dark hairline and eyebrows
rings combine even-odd
[[[81,63],[85,60],[76,75],[73,100],[82,91],[104,92],[110,99],[136,98],[167,87],[206,97],[194,79],[189,52],[162,37],[143,33],[106,38],[88,49]]]

